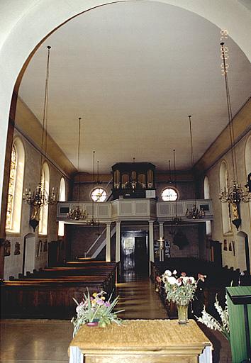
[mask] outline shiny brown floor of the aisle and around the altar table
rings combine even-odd
[[[162,319],[167,313],[149,279],[128,276],[118,284],[121,318]],[[1,363],[67,362],[67,347],[72,339],[69,320],[1,320]],[[230,363],[228,341],[220,333],[201,326],[215,347],[214,363]],[[123,362],[121,362],[123,363]]]

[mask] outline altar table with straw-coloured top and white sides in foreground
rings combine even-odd
[[[194,320],[124,320],[83,325],[69,345],[69,363],[211,363],[212,345]]]

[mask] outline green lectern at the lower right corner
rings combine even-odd
[[[251,362],[251,286],[227,287],[233,363]]]

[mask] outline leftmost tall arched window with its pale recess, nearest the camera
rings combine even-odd
[[[14,140],[11,149],[11,169],[6,212],[6,231],[19,233],[23,198],[23,173],[25,152],[19,138]]]

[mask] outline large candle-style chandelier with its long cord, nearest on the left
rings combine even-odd
[[[45,79],[45,100],[43,105],[43,130],[42,130],[42,141],[40,148],[40,182],[34,191],[30,188],[26,188],[23,193],[23,201],[30,206],[38,209],[48,204],[52,205],[57,203],[55,196],[55,189],[52,188],[51,193],[45,189],[45,182],[43,176],[43,162],[47,155],[47,125],[48,125],[48,94],[49,94],[49,70],[50,70],[50,45],[48,45],[48,56],[47,56],[47,68],[46,68],[46,79]],[[37,215],[38,213],[35,213]]]

